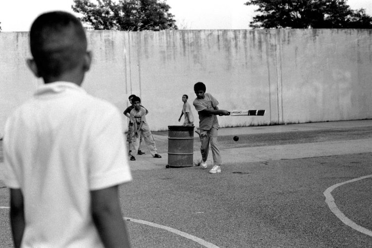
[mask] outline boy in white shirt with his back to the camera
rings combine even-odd
[[[70,13],[44,13],[30,47],[27,64],[45,84],[7,119],[3,141],[14,246],[129,247],[121,114],[80,87],[91,64],[83,26]]]

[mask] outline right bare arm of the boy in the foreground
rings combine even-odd
[[[123,220],[118,185],[90,191],[92,217],[105,247],[130,247]]]

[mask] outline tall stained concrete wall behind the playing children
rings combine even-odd
[[[88,39],[94,59],[83,87],[122,110],[129,94],[140,96],[154,131],[179,124],[182,95],[192,104],[199,81],[221,109],[267,110],[219,117],[223,127],[372,118],[371,30],[90,31]],[[0,128],[42,83],[25,66],[29,56],[28,33],[0,32]]]

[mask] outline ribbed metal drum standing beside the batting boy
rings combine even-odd
[[[193,165],[194,126],[168,126],[167,167]]]

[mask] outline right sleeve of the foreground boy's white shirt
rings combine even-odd
[[[89,188],[98,190],[132,179],[119,111],[106,111],[92,125],[89,156]]]

